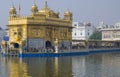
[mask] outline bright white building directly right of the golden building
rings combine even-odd
[[[87,40],[95,31],[91,23],[73,22],[72,27],[72,40]]]

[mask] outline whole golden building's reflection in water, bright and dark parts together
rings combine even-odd
[[[72,77],[70,57],[1,59],[4,77]]]

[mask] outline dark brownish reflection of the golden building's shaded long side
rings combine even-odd
[[[31,77],[72,77],[71,57],[24,58]]]

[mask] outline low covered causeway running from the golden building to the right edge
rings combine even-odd
[[[72,48],[119,48],[120,40],[118,41],[103,41],[103,40],[72,40]]]

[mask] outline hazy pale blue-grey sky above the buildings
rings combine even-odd
[[[73,13],[73,21],[92,22],[97,25],[100,21],[107,24],[115,24],[120,21],[120,0],[36,0],[39,8],[43,8],[45,1],[49,8],[60,12],[69,9]],[[14,4],[18,10],[21,6],[21,15],[30,15],[34,0],[2,0],[0,2],[0,26],[8,24],[9,9]]]

